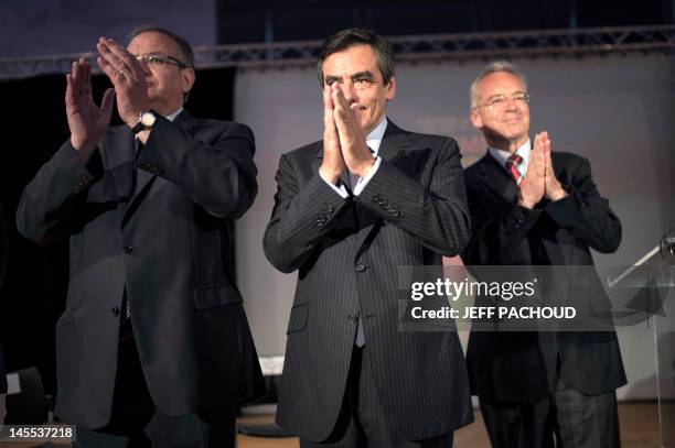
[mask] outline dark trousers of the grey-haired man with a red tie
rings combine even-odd
[[[559,381],[540,402],[480,404],[494,448],[621,447],[615,391],[589,396]]]

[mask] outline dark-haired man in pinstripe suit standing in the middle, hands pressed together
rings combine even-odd
[[[398,266],[440,264],[469,238],[454,140],[385,117],[393,51],[366,30],[324,43],[323,140],[285,154],[264,247],[299,271],[278,423],[301,447],[451,447],[473,419],[454,331],[397,329]]]

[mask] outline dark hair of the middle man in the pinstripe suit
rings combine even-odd
[[[361,28],[350,28],[342,30],[325,40],[319,52],[319,62],[317,62],[317,72],[319,83],[323,86],[323,62],[333,53],[343,52],[347,48],[357,45],[369,45],[377,57],[377,68],[382,73],[384,84],[387,84],[396,68],[394,62],[394,48],[381,35],[375,34],[371,30]]]

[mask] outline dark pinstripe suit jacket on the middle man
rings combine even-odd
[[[378,154],[377,173],[350,200],[319,176],[322,142],[279,163],[265,253],[282,272],[299,270],[299,280],[277,420],[310,440],[325,439],[338,419],[360,312],[364,356],[395,436],[422,439],[473,419],[457,332],[399,331],[397,319],[409,299],[398,266],[440,264],[467,242],[458,145],[389,122]]]

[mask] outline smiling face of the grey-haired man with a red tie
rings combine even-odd
[[[476,92],[478,107],[471,110],[471,122],[483,131],[488,143],[525,143],[529,132],[529,106],[522,99],[522,94],[527,91],[521,79],[506,72],[496,72],[481,79]]]

